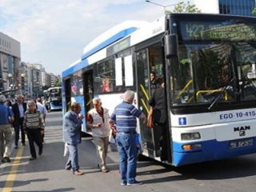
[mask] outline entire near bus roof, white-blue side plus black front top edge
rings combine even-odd
[[[182,19],[203,19],[214,20],[216,18],[245,18],[247,21],[254,21],[255,17],[246,17],[240,15],[228,14],[188,14],[178,13],[170,14],[167,17],[182,18]],[[122,39],[130,37],[130,46],[136,45],[138,42],[143,42],[148,38],[152,38],[165,31],[165,16],[158,18],[154,22],[142,21],[127,21],[122,22],[117,26],[112,27],[105,33],[95,38],[83,50],[82,57],[74,62],[68,69],[62,72],[62,78],[81,70],[82,68],[106,58],[106,48],[121,42]]]

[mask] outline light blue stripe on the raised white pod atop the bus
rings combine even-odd
[[[84,60],[85,58],[88,58],[90,55],[98,52],[98,50],[102,50],[104,47],[109,46],[113,42],[116,42],[118,39],[126,37],[127,35],[133,33],[137,29],[138,29],[137,27],[130,27],[130,28],[127,28],[126,30],[122,30],[122,31],[118,32],[118,34],[114,34],[112,37],[106,39],[105,42],[102,42],[98,46],[95,46],[92,50],[89,50],[88,52],[83,54],[82,60]]]

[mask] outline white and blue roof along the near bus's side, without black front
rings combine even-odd
[[[123,38],[132,36],[134,38],[131,39],[131,44],[134,45],[136,42],[142,42],[146,38],[152,37],[152,34],[153,36],[157,35],[159,32],[163,31],[162,27],[159,27],[158,25],[156,26],[156,23],[160,23],[160,21],[162,23],[161,25],[163,25],[164,17],[151,23],[143,21],[126,21],[112,27],[110,30],[107,30],[98,36],[98,38],[95,38],[84,48],[82,58],[74,62],[68,69],[64,70],[62,72],[62,78],[65,78],[66,76],[81,70],[85,66],[90,65],[95,61],[93,55],[96,53],[101,54],[100,57],[106,57],[106,47],[113,45],[114,42],[118,42]],[[158,29],[154,30],[154,26]],[[101,52],[102,50],[104,53]]]

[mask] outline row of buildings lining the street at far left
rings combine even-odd
[[[60,77],[48,74],[42,64],[21,62],[20,42],[0,32],[0,94],[36,98],[58,81]]]

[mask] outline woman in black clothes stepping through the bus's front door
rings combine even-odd
[[[159,87],[154,90],[149,104],[153,107],[155,150],[161,150],[161,160],[168,160],[167,155],[167,104],[165,83],[163,78],[158,78]]]

